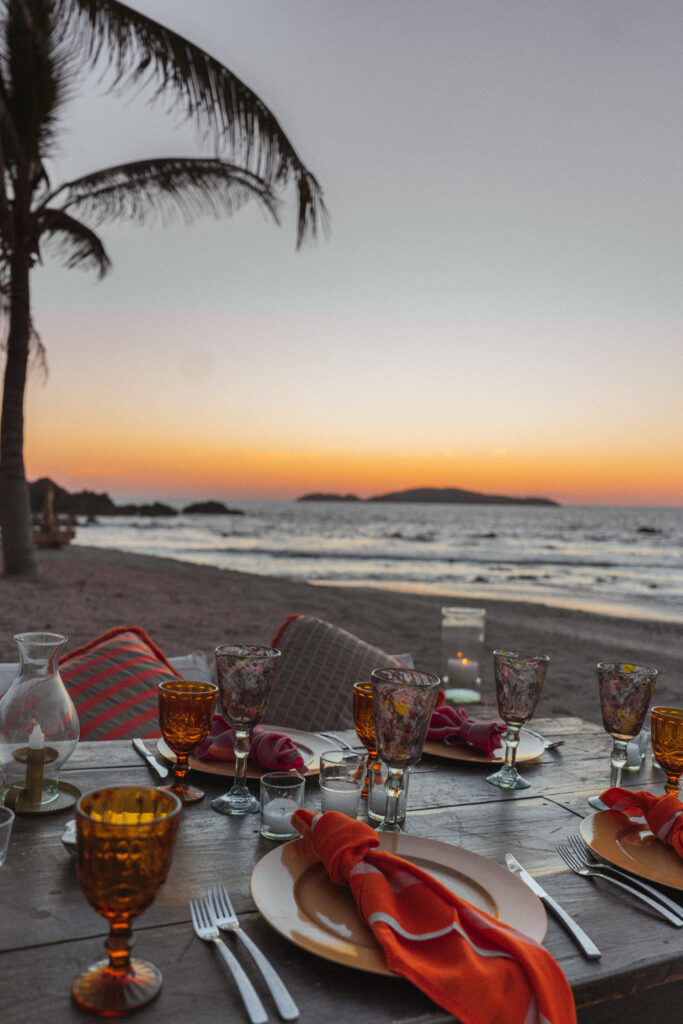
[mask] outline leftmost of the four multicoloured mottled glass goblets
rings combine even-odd
[[[220,709],[234,729],[234,782],[222,797],[211,801],[220,814],[256,814],[261,809],[247,788],[247,759],[250,733],[265,714],[280,653],[275,647],[254,644],[216,647]]]

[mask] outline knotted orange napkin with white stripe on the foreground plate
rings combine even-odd
[[[362,821],[299,810],[335,885],[348,886],[387,967],[463,1024],[574,1024],[571,989],[550,953],[456,896],[410,861],[377,849]]]

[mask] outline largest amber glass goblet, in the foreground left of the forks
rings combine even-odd
[[[92,964],[72,986],[74,1001],[118,1017],[159,992],[161,972],[130,955],[131,922],[166,880],[181,803],[172,793],[122,785],[87,793],[76,806],[76,870],[88,902],[106,918],[109,959]]]

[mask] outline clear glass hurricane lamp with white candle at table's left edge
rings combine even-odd
[[[30,814],[59,797],[59,772],[74,753],[80,723],[59,676],[67,637],[17,633],[14,642],[19,671],[0,701],[2,796],[8,807]]]

